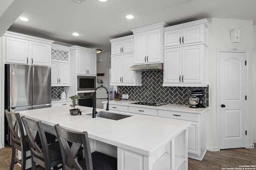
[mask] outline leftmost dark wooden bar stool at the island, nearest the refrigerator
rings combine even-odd
[[[19,163],[21,165],[21,170],[25,170],[26,160],[30,158],[30,156],[26,156],[26,151],[30,150],[30,147],[28,143],[28,137],[24,134],[24,128],[22,126],[20,113],[10,113],[7,110],[5,110],[4,112],[12,137],[12,160],[10,170],[13,170],[14,164],[16,163]],[[38,138],[39,136],[37,134],[36,140],[38,140]],[[46,138],[48,143],[52,143],[55,142],[56,136],[46,132]],[[16,157],[16,149],[20,150],[21,152],[21,160]]]

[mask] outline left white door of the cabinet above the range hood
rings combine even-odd
[[[134,34],[134,64],[146,63],[147,33]]]

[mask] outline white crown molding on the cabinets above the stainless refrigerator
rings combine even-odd
[[[28,40],[28,41],[32,41],[32,42],[41,42],[41,43],[46,43],[46,44],[52,44],[54,42],[53,40],[47,40],[47,39],[44,39],[44,38],[28,36],[28,35],[25,35],[25,34],[20,34],[20,33],[10,32],[10,31],[6,31],[3,36],[12,37],[12,38],[19,38],[19,39],[22,39],[22,40]]]

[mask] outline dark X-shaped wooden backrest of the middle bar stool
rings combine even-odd
[[[50,154],[42,122],[27,119],[24,116],[22,117],[22,121],[24,127],[26,128],[28,142],[31,150],[31,157],[33,156],[33,160],[40,166],[48,169],[48,167],[51,167]],[[41,144],[36,140],[37,133],[39,134]]]

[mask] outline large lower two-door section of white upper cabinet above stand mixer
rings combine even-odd
[[[204,45],[165,49],[163,86],[206,87],[204,55]]]

